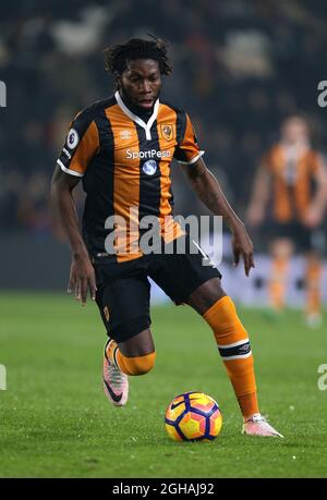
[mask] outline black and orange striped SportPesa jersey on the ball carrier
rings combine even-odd
[[[189,115],[159,100],[147,122],[118,92],[77,113],[58,163],[65,173],[83,178],[83,236],[89,253],[106,255],[106,221],[112,217],[116,233],[120,225],[128,232],[124,251],[117,249],[118,261],[143,255],[135,242],[144,216],[158,218],[166,242],[182,234],[172,218],[171,162],[191,164],[203,153]]]

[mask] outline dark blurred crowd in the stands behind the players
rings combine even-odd
[[[69,122],[112,93],[102,50],[153,33],[170,42],[167,100],[191,115],[207,164],[244,214],[254,170],[281,120],[302,112],[324,151],[327,111],[317,85],[327,8],[301,0],[34,0],[0,19],[0,231],[50,233],[49,182]],[[199,214],[174,167],[177,212]],[[77,195],[82,205],[83,195]]]

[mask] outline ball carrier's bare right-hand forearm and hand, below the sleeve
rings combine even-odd
[[[254,267],[253,244],[244,223],[228,203],[219,182],[208,170],[202,157],[192,164],[183,166],[194,191],[204,205],[216,216],[222,216],[232,233],[234,265],[243,256],[245,275]]]

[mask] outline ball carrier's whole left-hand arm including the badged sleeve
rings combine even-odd
[[[99,151],[98,129],[93,120],[94,111],[78,113],[71,124],[51,182],[51,205],[55,208],[72,251],[72,265],[68,291],[74,290],[82,305],[86,303],[87,290],[95,300],[95,270],[83,241],[73,190],[83,178],[93,157]]]

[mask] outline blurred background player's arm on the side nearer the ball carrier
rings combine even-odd
[[[257,168],[246,211],[246,220],[252,228],[259,225],[264,221],[269,196],[270,173],[266,167],[266,159],[264,159]]]

